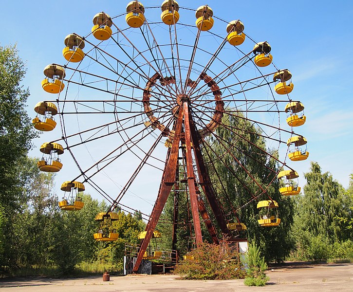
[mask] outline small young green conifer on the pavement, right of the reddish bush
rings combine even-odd
[[[265,286],[269,277],[264,273],[267,270],[264,257],[260,256],[260,248],[256,244],[249,244],[249,250],[244,256],[246,286]]]

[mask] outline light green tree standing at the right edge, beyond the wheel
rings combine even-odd
[[[311,163],[304,177],[307,184],[304,195],[297,200],[294,224],[297,255],[304,259],[327,259],[334,242],[352,238],[352,231],[337,219],[352,218],[352,198],[329,172],[322,173],[316,162]]]

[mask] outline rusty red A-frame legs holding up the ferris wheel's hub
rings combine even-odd
[[[193,147],[197,146],[197,150],[195,151],[194,148],[194,156],[198,167],[198,175],[200,179],[201,186],[203,188],[204,194],[207,197],[207,200],[212,206],[212,211],[216,215],[216,219],[220,224],[221,230],[223,233],[228,233],[226,228],[226,222],[224,220],[221,208],[216,200],[215,194],[213,189],[210,186],[210,179],[208,174],[205,172],[204,161],[198,161],[200,158],[202,159],[202,153],[200,150],[200,144],[197,137],[197,132],[195,128],[195,124],[192,121],[191,112],[189,111],[189,98],[183,97],[182,104],[179,109],[178,118],[175,124],[175,135],[173,139],[173,143],[171,146],[170,151],[167,154],[167,163],[165,167],[165,172],[162,177],[162,182],[159,188],[157,201],[153,207],[149,222],[146,226],[146,236],[142,241],[136,263],[133,267],[133,272],[136,273],[142,261],[143,255],[149,245],[149,241],[152,238],[153,231],[156,228],[158,220],[162,214],[163,208],[167,202],[168,195],[175,183],[175,175],[176,169],[178,167],[178,156],[179,156],[179,144],[181,137],[184,136],[185,138],[185,158],[186,158],[186,173],[187,173],[187,185],[190,197],[190,205],[191,205],[191,212],[192,212],[192,219],[194,225],[194,232],[196,237],[196,245],[199,246],[200,243],[203,242],[202,233],[201,233],[201,224],[200,224],[200,217],[199,211],[205,221],[207,229],[215,243],[219,243],[217,238],[216,230],[212,225],[212,222],[207,214],[207,211],[204,207],[204,202],[201,200],[200,192],[197,187],[196,177],[193,169],[193,162],[192,162],[192,145]],[[184,121],[184,123],[183,123]],[[184,125],[185,133],[182,132],[182,126]],[[199,169],[202,168],[202,170]],[[174,222],[175,224],[175,222]]]

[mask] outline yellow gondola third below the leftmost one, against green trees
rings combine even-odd
[[[119,234],[113,228],[112,222],[118,220],[118,214],[115,212],[101,212],[94,218],[99,222],[97,233],[93,234],[96,241],[115,241],[119,238]]]

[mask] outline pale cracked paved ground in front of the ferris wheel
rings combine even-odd
[[[0,279],[1,292],[353,292],[353,264],[287,265],[268,271],[265,287],[246,287],[243,280],[191,281],[174,275],[111,276],[74,279]]]

